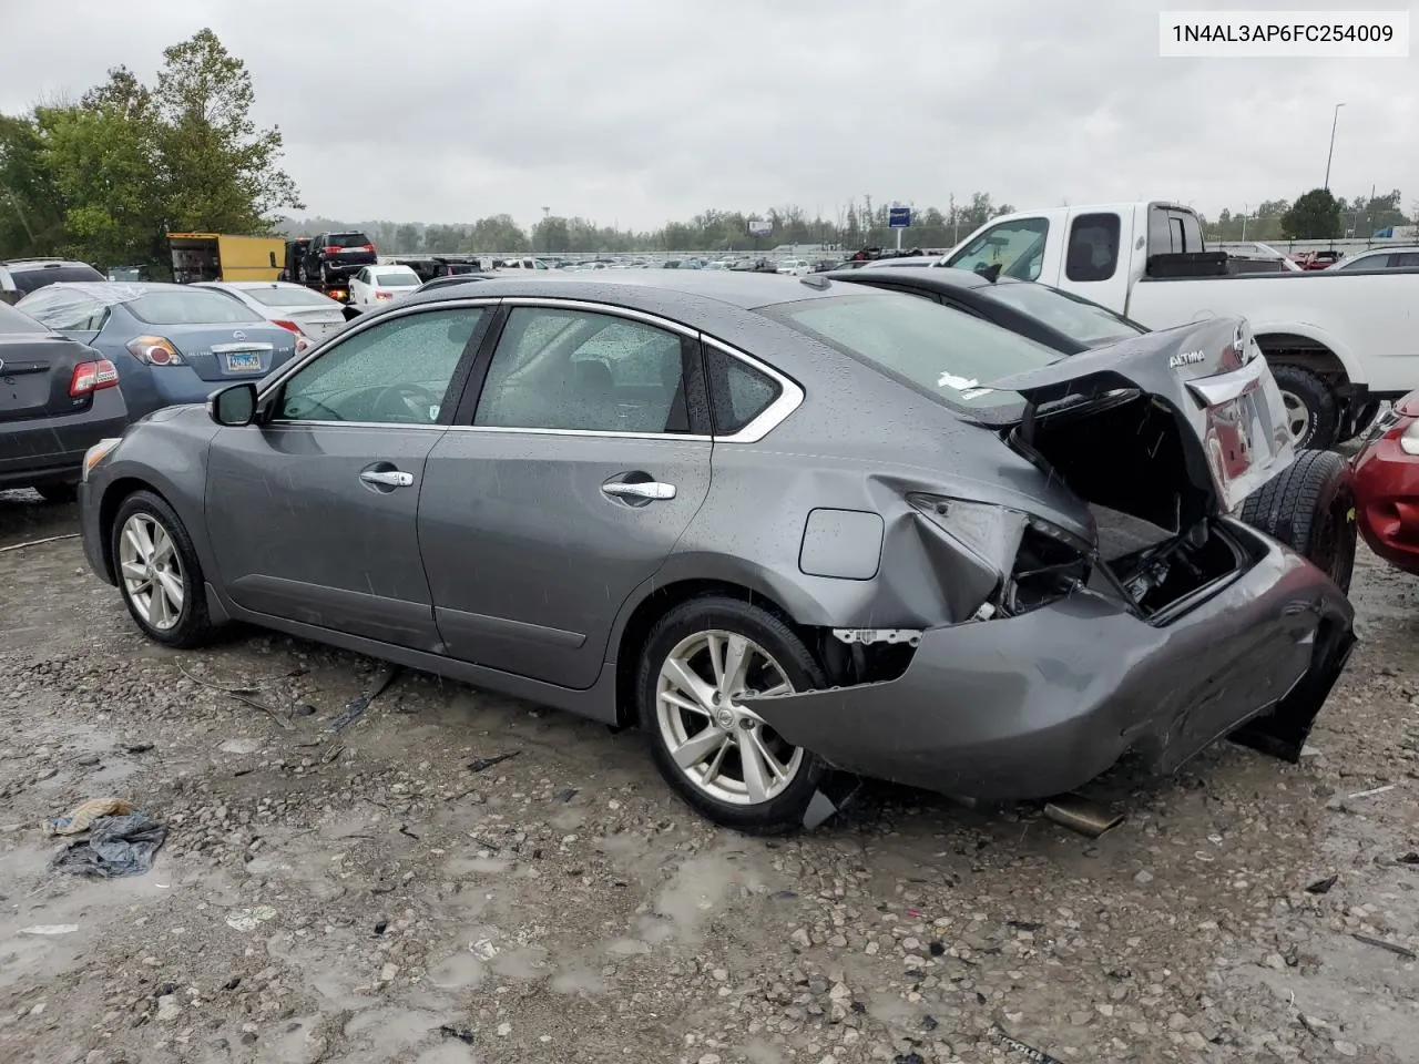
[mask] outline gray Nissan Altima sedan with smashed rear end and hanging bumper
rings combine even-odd
[[[1291,457],[1240,321],[1063,358],[911,295],[622,271],[362,316],[96,445],[81,495],[159,643],[248,621],[637,724],[768,830],[851,775],[1297,758],[1351,607],[1229,516]]]

